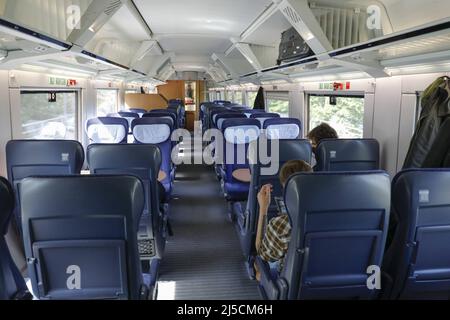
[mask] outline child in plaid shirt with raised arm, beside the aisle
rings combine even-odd
[[[313,170],[309,164],[302,160],[287,162],[280,171],[280,182],[283,188],[289,178],[299,172],[313,172]],[[271,265],[271,269],[280,271],[291,240],[291,225],[287,212],[279,212],[279,216],[272,219],[266,228],[266,232],[263,232],[271,199],[272,186],[263,186],[258,194],[259,222],[256,234],[256,250],[258,255]],[[257,269],[256,265],[255,267]],[[256,277],[259,280],[259,271],[256,271]]]

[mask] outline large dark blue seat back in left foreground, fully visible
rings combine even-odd
[[[25,254],[36,297],[140,298],[137,230],[145,198],[138,178],[27,178],[22,191]]]

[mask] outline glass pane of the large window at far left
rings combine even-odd
[[[24,139],[77,139],[77,91],[22,91],[20,99]]]

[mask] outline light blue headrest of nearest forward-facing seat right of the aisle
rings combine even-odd
[[[222,123],[225,141],[231,144],[248,144],[258,140],[261,126],[255,119],[226,119]]]

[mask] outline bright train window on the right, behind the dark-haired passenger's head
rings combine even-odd
[[[364,97],[309,95],[308,100],[310,130],[325,122],[340,138],[363,138]]]

